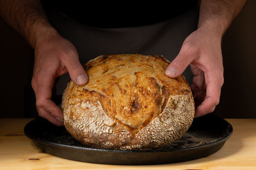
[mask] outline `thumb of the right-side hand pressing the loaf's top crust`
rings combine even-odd
[[[175,78],[182,74],[186,67],[191,63],[193,58],[185,53],[179,53],[177,57],[171,62],[171,64],[167,67],[165,74],[170,78]]]

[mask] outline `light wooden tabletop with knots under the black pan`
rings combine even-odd
[[[61,159],[24,135],[31,119],[0,119],[0,169],[256,169],[256,119],[227,119],[234,128],[223,148],[208,157],[155,166],[115,166]]]

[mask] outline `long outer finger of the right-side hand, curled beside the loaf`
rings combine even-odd
[[[205,73],[206,96],[204,101],[196,108],[196,117],[211,113],[220,102],[223,78],[214,71]]]

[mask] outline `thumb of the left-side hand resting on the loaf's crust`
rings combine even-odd
[[[77,85],[85,85],[88,82],[88,76],[79,62],[77,53],[65,54],[61,57],[61,61],[67,67],[70,78]]]

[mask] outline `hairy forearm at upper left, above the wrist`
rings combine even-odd
[[[40,38],[56,34],[38,0],[0,0],[0,14],[33,48]]]

